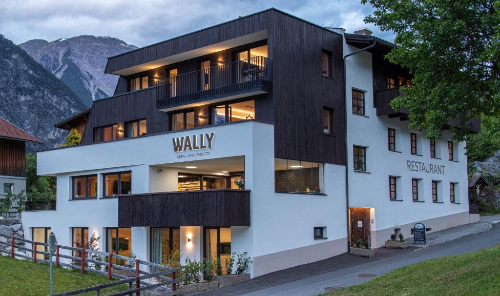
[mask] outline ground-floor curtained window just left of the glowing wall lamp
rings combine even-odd
[[[151,227],[151,262],[161,264],[172,252],[180,250],[180,229]]]

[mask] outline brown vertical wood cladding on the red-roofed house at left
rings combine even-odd
[[[0,138],[0,175],[24,177],[25,155],[24,141]]]

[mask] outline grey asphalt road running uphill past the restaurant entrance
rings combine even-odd
[[[326,287],[347,287],[372,279],[360,278],[358,277],[360,274],[379,276],[413,263],[478,251],[500,244],[500,215],[481,217],[481,221],[491,223],[491,229],[427,248],[410,247],[407,250],[380,248],[371,259],[342,254],[198,295],[316,296],[324,293]]]

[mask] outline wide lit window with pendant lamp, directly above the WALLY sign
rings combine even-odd
[[[211,108],[211,124],[255,119],[254,101],[221,104]]]

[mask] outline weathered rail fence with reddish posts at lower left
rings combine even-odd
[[[18,237],[14,236],[7,236],[4,234],[0,234],[1,237],[7,238],[7,242],[2,242],[0,241],[0,245],[3,245],[6,247],[5,250],[3,250],[0,246],[0,253],[4,253],[7,255],[10,255],[11,258],[15,257],[20,257],[24,258],[27,260],[32,260],[33,262],[41,262],[41,263],[49,263],[49,260],[46,259],[39,259],[36,257],[37,254],[41,254],[45,256],[50,256],[48,252],[44,251],[38,251],[37,246],[44,246],[48,248],[48,244],[46,243],[41,243],[41,242],[34,242],[34,241],[29,241],[25,239],[21,239]],[[14,244],[15,241],[22,241],[24,243],[31,244],[31,249],[30,248],[25,248],[22,246],[17,246]],[[20,254],[18,251],[17,253],[15,252],[15,249],[21,250],[26,252],[25,254]],[[70,255],[63,255],[60,254],[60,249],[64,250],[69,250],[69,251],[76,251],[78,257],[76,256],[70,256]],[[28,254],[31,254],[31,256],[27,256]],[[95,256],[92,256],[95,255]],[[129,295],[131,296],[132,294],[135,293],[136,296],[140,295],[140,292],[151,290],[151,289],[160,289],[161,292],[163,293],[162,295],[175,295],[176,291],[176,285],[178,283],[178,280],[175,278],[175,274],[177,273],[177,269],[170,268],[164,265],[159,265],[159,264],[154,264],[134,258],[129,258],[121,255],[116,255],[112,253],[105,253],[105,252],[100,252],[96,250],[90,250],[90,249],[84,249],[84,248],[74,248],[74,247],[68,247],[68,246],[56,246],[55,254],[52,254],[53,257],[55,257],[55,266],[56,267],[66,267],[69,269],[76,269],[80,270],[81,273],[83,274],[84,272],[91,272],[94,274],[98,274],[101,276],[107,277],[107,279],[110,281],[111,279],[118,279],[119,281],[115,282],[109,282],[106,284],[102,285],[97,285],[93,287],[87,287],[87,288],[82,288],[74,291],[69,291],[69,292],[63,292],[59,294],[53,294],[51,296],[70,296],[70,295],[79,295],[83,293],[88,293],[88,292],[93,292],[95,291],[95,295],[99,296],[100,291],[103,289],[115,287],[115,286],[120,286],[123,284],[128,285],[128,289],[123,292],[115,293],[110,296],[123,296],[123,295]],[[63,263],[60,262],[60,258],[68,259],[71,260],[71,263]],[[135,268],[130,268],[130,267],[125,267],[121,265],[117,265],[113,263],[113,260],[120,260],[124,262],[131,262],[135,265]],[[76,265],[78,264],[78,265]],[[150,273],[146,271],[140,270],[140,265],[143,266],[148,266],[152,269],[155,269],[156,272]],[[101,270],[101,266],[104,266],[104,271]],[[135,274],[134,277],[126,277],[123,275],[119,275],[116,273],[113,273],[115,271],[126,271],[126,272],[131,272]],[[166,275],[172,275],[171,278],[166,277]],[[147,279],[157,279],[158,283],[152,284],[148,282],[144,282],[143,280]],[[133,288],[134,286],[135,288]],[[170,287],[167,287],[170,286]]]

